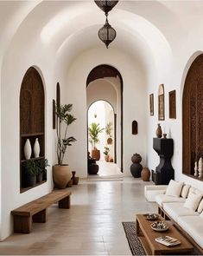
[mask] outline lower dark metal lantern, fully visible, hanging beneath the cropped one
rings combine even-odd
[[[117,32],[114,30],[106,16],[105,25],[98,30],[98,38],[105,43],[106,48],[108,49],[109,44],[116,38]]]

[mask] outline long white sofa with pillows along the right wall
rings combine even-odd
[[[168,193],[169,186],[170,183],[165,192],[155,195],[159,213],[166,220],[172,220],[174,225],[193,243],[198,253],[203,254],[203,191],[184,185],[182,182],[180,193],[172,189],[172,195],[170,195]],[[159,186],[155,187],[158,191]],[[146,188],[146,191],[150,189]]]

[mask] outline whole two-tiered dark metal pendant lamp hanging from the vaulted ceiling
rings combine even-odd
[[[117,36],[116,30],[114,30],[109,21],[108,21],[108,14],[109,11],[113,9],[113,7],[118,3],[118,1],[111,1],[111,0],[94,0],[94,2],[98,5],[98,7],[105,12],[105,25],[98,30],[98,38],[105,43],[106,48],[108,49],[109,44],[113,42],[113,40]]]

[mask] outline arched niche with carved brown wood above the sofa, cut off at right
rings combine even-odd
[[[182,95],[182,173],[194,176],[194,163],[203,155],[203,54],[187,72]]]

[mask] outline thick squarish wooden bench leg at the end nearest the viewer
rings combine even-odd
[[[14,232],[30,233],[32,228],[31,216],[14,215]]]

